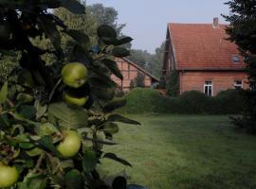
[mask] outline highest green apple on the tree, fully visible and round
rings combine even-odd
[[[72,88],[80,88],[87,81],[88,70],[80,62],[67,63],[62,69],[64,84]]]

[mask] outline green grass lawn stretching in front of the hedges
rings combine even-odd
[[[150,189],[255,189],[256,136],[237,132],[227,116],[133,115],[107,146],[133,164],[102,161],[102,174],[122,170]]]

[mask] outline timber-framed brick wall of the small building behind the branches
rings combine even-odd
[[[112,75],[111,78],[119,85],[120,88],[122,87],[123,91],[129,91],[130,83],[132,80],[135,80],[137,78],[137,72],[139,72],[139,70],[134,65],[122,59],[118,59],[117,63],[119,66],[119,70],[122,73],[123,80],[121,81],[119,77],[116,77],[114,75]],[[144,78],[145,87],[151,87],[152,85],[151,77],[145,75],[142,72],[140,73],[145,77]]]

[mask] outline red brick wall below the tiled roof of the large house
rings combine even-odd
[[[234,81],[242,80],[243,88],[247,89],[247,75],[242,72],[180,72],[180,94],[186,91],[200,91],[204,93],[205,81],[212,81],[212,94],[234,89]]]

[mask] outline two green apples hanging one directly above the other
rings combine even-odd
[[[64,90],[64,101],[71,105],[83,106],[88,100],[84,92],[84,84],[88,79],[88,70],[80,62],[72,62],[64,65],[62,69]]]

